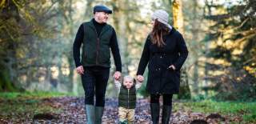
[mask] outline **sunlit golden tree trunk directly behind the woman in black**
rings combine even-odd
[[[182,15],[182,0],[174,0],[173,6],[173,18],[174,18],[174,27],[184,35],[184,23]],[[186,71],[187,67],[183,66],[181,71],[181,84],[178,98],[190,98],[190,87],[188,82],[188,74]]]

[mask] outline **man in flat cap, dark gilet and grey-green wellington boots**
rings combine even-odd
[[[116,66],[114,78],[118,80],[122,72],[116,33],[114,28],[106,23],[109,14],[112,14],[112,10],[106,6],[94,6],[94,18],[90,22],[82,23],[73,45],[76,70],[81,74],[82,86],[85,90],[88,124],[102,123],[106,85],[110,74],[110,49]],[[81,45],[82,60],[80,61]]]

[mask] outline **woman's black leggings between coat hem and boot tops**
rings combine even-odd
[[[159,103],[161,94],[150,94],[150,103]],[[163,105],[171,106],[173,94],[162,94]]]

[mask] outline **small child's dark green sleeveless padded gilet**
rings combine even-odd
[[[132,86],[128,90],[125,86],[121,86],[118,95],[118,106],[122,106],[126,109],[134,109],[136,107],[136,88]]]

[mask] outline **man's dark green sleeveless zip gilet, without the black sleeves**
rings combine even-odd
[[[82,66],[110,67],[110,38],[112,26],[106,24],[97,34],[92,21],[83,23],[85,36],[82,47]]]

